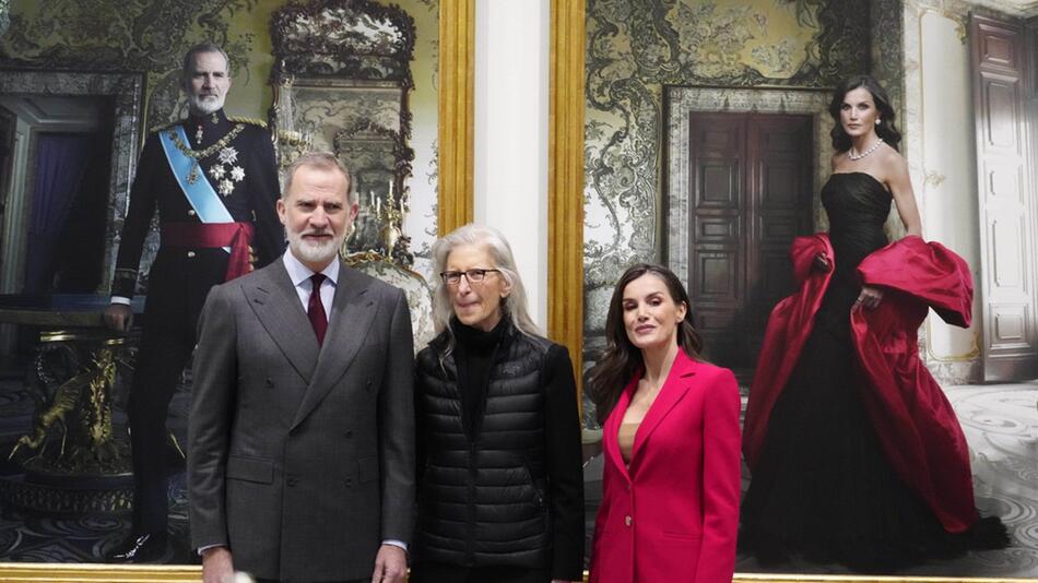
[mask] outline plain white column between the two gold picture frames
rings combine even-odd
[[[547,323],[551,0],[476,0],[475,222],[511,243],[530,313]]]

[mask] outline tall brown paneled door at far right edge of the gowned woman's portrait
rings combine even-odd
[[[970,21],[984,380],[1038,376],[1035,322],[1035,201],[1024,123],[1024,35],[1019,25]]]

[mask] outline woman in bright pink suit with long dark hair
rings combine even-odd
[[[698,360],[688,295],[665,267],[628,269],[589,392],[605,468],[592,583],[728,583],[739,524],[739,388]]]

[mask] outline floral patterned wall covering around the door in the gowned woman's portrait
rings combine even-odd
[[[897,1],[897,0],[889,0]],[[889,3],[889,2],[887,2]],[[870,70],[870,2],[588,0],[586,361],[612,284],[659,260],[664,85],[831,87]]]

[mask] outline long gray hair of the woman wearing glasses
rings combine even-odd
[[[541,331],[533,323],[527,308],[527,291],[522,286],[522,279],[519,277],[519,270],[516,267],[516,258],[511,253],[511,246],[508,245],[505,236],[499,230],[469,223],[440,237],[433,243],[433,269],[435,273],[439,274],[445,271],[450,252],[463,245],[485,249],[491,255],[491,261],[494,262],[493,267],[500,271],[502,277],[511,287],[508,297],[502,299],[504,318],[510,319],[511,324],[519,332],[528,336],[541,336]],[[450,353],[455,345],[453,332],[450,331],[450,318],[453,313],[450,291],[447,284],[437,275],[433,283],[433,322],[437,334],[446,330],[450,336],[447,353]]]

